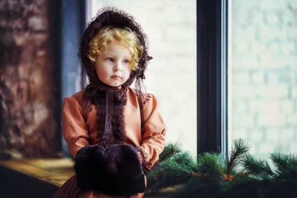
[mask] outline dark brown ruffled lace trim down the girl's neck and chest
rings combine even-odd
[[[125,144],[127,132],[124,105],[127,104],[128,88],[122,86],[121,89],[117,89],[89,84],[85,90],[92,93],[86,95],[88,111],[92,111],[93,105],[96,106],[99,145],[106,148],[114,144]]]

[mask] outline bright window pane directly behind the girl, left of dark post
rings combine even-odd
[[[153,59],[145,83],[160,101],[166,140],[196,155],[196,0],[92,0],[90,17],[103,6],[131,13],[147,33]]]

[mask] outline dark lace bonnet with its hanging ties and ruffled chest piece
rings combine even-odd
[[[138,35],[144,52],[138,62],[138,70],[133,70],[129,79],[125,82],[121,89],[108,86],[102,83],[96,73],[94,65],[87,57],[89,50],[89,42],[94,35],[98,33],[100,28],[106,25],[115,27],[128,27]],[[140,104],[142,129],[144,127],[143,105],[146,101],[146,91],[143,93],[142,86],[145,79],[145,70],[147,69],[149,60],[152,59],[148,55],[149,42],[147,35],[144,33],[141,25],[135,21],[135,18],[123,10],[116,7],[103,7],[99,9],[96,17],[87,24],[87,28],[82,36],[78,57],[85,68],[89,83],[84,89],[83,103],[89,111],[92,110],[92,104],[97,109],[97,138],[101,141],[102,146],[112,144],[124,144],[126,142],[125,117],[123,105],[127,102],[127,87],[135,81],[135,90],[138,94]]]

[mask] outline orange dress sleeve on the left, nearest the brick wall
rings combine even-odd
[[[82,116],[82,108],[73,97],[65,97],[62,107],[62,134],[73,157],[89,145],[89,129]]]

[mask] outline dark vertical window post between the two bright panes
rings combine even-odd
[[[197,153],[228,149],[228,0],[197,0]]]

